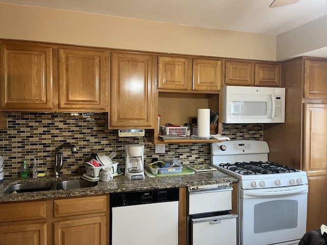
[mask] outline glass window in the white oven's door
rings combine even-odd
[[[296,200],[276,200],[254,205],[254,233],[297,227]]]

